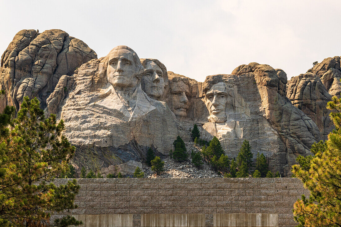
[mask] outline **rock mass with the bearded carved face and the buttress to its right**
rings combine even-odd
[[[254,157],[263,152],[273,171],[290,175],[297,155],[310,154],[320,137],[316,124],[284,96],[282,70],[250,63],[232,74],[206,77],[203,101],[209,122],[203,124],[203,135],[216,136],[229,157],[236,157],[247,139]]]

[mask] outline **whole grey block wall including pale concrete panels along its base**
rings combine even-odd
[[[296,178],[104,178],[78,184],[78,208],[70,214],[87,220],[84,226],[296,226],[293,204],[309,195]]]

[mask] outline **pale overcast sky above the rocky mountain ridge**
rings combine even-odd
[[[290,79],[341,56],[340,0],[0,2],[1,53],[22,29],[62,29],[98,57],[127,45],[198,81],[250,62]]]

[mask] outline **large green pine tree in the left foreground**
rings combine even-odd
[[[49,226],[50,213],[76,208],[76,180],[58,187],[56,176],[68,170],[74,147],[61,136],[64,123],[44,112],[35,98],[24,97],[14,121],[13,109],[0,116],[0,226]],[[9,130],[6,125],[14,127]],[[74,217],[56,220],[56,226],[79,225]]]

